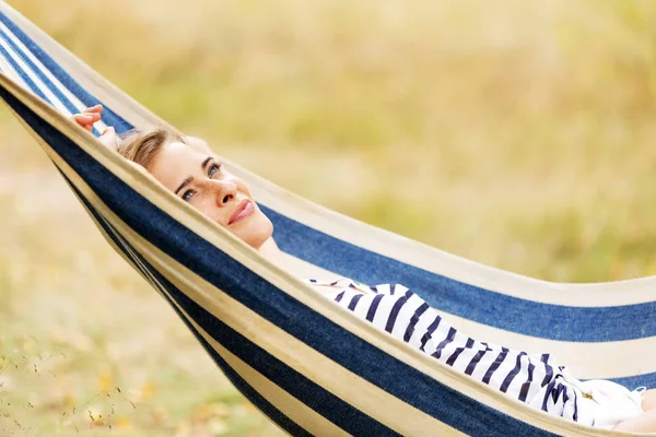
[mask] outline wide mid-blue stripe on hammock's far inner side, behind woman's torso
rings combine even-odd
[[[311,228],[269,208],[262,206],[262,210],[273,222],[276,241],[285,252],[359,282],[403,284],[433,308],[468,320],[525,335],[572,342],[656,335],[656,302],[588,308],[507,296],[405,264]],[[625,323],[626,320],[640,322]]]

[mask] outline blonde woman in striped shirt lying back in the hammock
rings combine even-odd
[[[91,131],[101,119],[96,105],[73,119]],[[107,128],[99,137],[145,168],[180,200],[280,263],[273,226],[248,187],[230,174],[207,143],[157,129],[119,141]],[[473,340],[449,326],[420,296],[399,284],[365,286],[349,279],[308,280],[328,298],[380,330],[461,373],[550,414],[617,430],[656,430],[656,390],[629,391],[611,381],[578,381],[549,354],[527,354]]]

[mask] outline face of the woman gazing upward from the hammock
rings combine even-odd
[[[166,188],[255,249],[271,237],[273,225],[243,180],[214,156],[176,141],[167,142],[150,166]]]

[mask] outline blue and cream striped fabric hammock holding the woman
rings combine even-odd
[[[67,117],[102,103],[103,122],[119,133],[166,123],[4,2],[0,69],[0,97],[109,244],[286,433],[617,435],[529,408],[376,330],[180,202]],[[337,214],[224,161],[308,277],[400,283],[476,339],[552,353],[579,378],[656,387],[654,277],[557,284],[503,272]]]

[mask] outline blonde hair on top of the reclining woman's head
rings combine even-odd
[[[186,144],[185,139],[171,129],[157,128],[148,132],[132,131],[121,139],[118,153],[150,170],[155,156],[169,141],[179,141]]]

